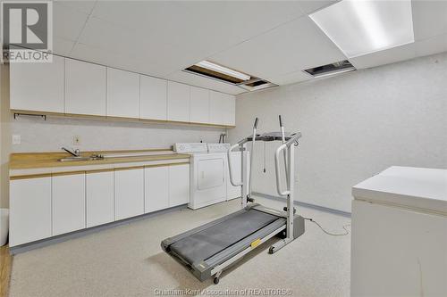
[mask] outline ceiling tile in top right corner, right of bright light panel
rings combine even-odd
[[[415,40],[447,34],[447,1],[412,1]]]

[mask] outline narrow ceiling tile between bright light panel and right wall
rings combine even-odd
[[[393,62],[401,62],[416,57],[415,44],[396,46],[373,54],[351,58],[350,62],[357,69],[371,68]]]

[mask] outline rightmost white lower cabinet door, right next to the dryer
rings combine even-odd
[[[190,164],[169,167],[169,206],[190,202]]]

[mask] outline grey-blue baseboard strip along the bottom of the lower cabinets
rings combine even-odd
[[[175,210],[184,210],[187,209],[188,204],[183,204],[183,205],[179,205],[179,206],[174,206],[172,208],[169,209],[165,209],[165,210],[157,210],[154,212],[150,212],[150,213],[145,213],[142,215],[139,215],[137,217],[132,217],[129,219],[121,219],[118,221],[114,221],[114,222],[110,222],[107,223],[105,225],[100,225],[100,226],[96,226],[96,227],[89,227],[87,229],[82,229],[82,230],[78,230],[78,231],[73,231],[71,233],[67,233],[67,234],[63,234],[63,235],[56,235],[53,237],[49,237],[49,238],[45,238],[42,240],[38,240],[36,242],[32,242],[32,243],[24,243],[21,245],[17,245],[17,246],[13,246],[9,249],[10,253],[12,255],[21,253],[21,252],[28,252],[31,250],[35,250],[35,249],[39,249],[48,245],[52,245],[55,243],[63,243],[67,240],[71,240],[71,239],[75,239],[75,238],[79,238],[85,235],[90,235],[90,234],[94,234],[97,233],[99,231],[103,231],[106,229],[110,229],[113,227],[119,227],[122,225],[127,225],[127,224],[131,224],[132,222],[141,220],[141,219],[148,219],[148,218],[153,218],[156,217],[158,215],[162,215],[168,212],[173,212]]]

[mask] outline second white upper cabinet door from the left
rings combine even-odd
[[[105,67],[65,59],[65,112],[105,116]]]

